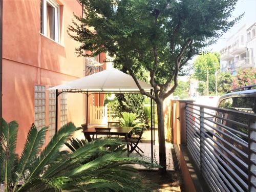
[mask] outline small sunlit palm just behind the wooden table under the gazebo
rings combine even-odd
[[[132,134],[139,135],[142,126],[144,125],[144,123],[141,122],[139,115],[127,112],[122,112],[121,114],[122,117],[120,118],[120,125],[134,127]]]

